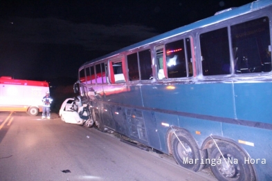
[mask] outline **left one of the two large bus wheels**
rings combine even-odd
[[[176,135],[179,139],[177,139]],[[197,147],[197,143],[186,133],[176,132],[176,135],[172,135],[172,153],[174,159],[186,169],[199,171],[203,166],[201,166],[201,153]],[[185,149],[188,151],[187,153],[179,140],[185,146]]]

